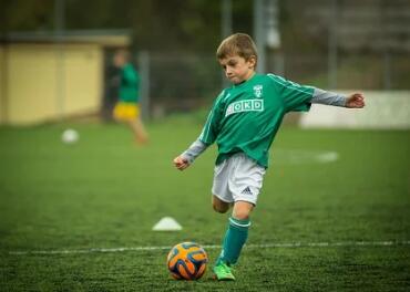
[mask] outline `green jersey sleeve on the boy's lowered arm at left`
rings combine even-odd
[[[211,145],[216,140],[221,131],[221,119],[223,117],[223,105],[222,105],[223,97],[224,92],[222,92],[214,102],[212,109],[208,114],[208,117],[206,118],[205,126],[199,135],[199,140],[207,145]]]

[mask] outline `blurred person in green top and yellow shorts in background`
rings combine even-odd
[[[131,63],[130,52],[116,51],[113,62],[120,69],[119,101],[113,111],[114,119],[131,127],[137,144],[146,144],[148,136],[140,115],[140,76]]]

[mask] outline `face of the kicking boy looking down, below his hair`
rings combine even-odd
[[[219,64],[224,69],[226,77],[232,83],[239,84],[250,79],[254,74],[256,58],[252,56],[245,60],[239,55],[233,55],[219,59]]]

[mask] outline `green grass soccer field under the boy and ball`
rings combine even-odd
[[[61,143],[66,127],[80,143]],[[172,165],[201,123],[148,131],[135,147],[119,125],[0,128],[0,291],[410,290],[409,131],[281,128],[236,282],[170,277],[155,247],[219,244],[228,215],[211,208],[214,147]],[[165,216],[183,230],[152,231]]]

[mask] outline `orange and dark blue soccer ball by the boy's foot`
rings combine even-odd
[[[171,275],[177,280],[198,280],[204,275],[208,255],[195,242],[183,242],[173,247],[167,257]]]

